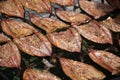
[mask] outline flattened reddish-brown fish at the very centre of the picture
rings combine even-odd
[[[48,40],[58,48],[70,51],[80,52],[82,39],[79,33],[70,28],[62,32],[54,32],[47,35]]]

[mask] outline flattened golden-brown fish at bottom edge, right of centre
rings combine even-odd
[[[103,80],[105,75],[91,65],[60,58],[60,64],[64,73],[72,80]]]

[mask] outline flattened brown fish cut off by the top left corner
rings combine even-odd
[[[24,10],[19,0],[6,0],[0,2],[0,13],[8,16],[24,18]]]

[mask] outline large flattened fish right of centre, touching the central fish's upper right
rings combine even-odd
[[[86,39],[100,44],[113,44],[111,32],[104,26],[100,26],[97,21],[74,27]]]

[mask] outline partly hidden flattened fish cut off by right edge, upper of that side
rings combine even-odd
[[[100,22],[100,24],[113,32],[120,32],[120,21],[118,21],[116,19],[108,17],[106,20]]]

